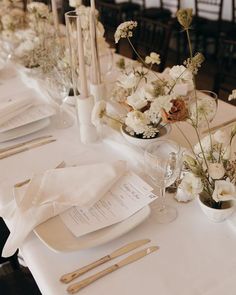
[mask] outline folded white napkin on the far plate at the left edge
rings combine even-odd
[[[33,105],[32,97],[13,99],[0,103],[0,125],[16,117]]]

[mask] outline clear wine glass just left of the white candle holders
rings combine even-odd
[[[71,89],[71,80],[68,73],[64,69],[54,68],[44,80],[45,88],[56,103],[57,114],[55,117],[55,127],[58,129],[68,128],[73,125],[74,119],[63,108],[64,102],[67,100]]]

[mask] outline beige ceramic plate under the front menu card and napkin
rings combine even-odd
[[[38,225],[34,232],[51,250],[69,252],[96,247],[114,240],[143,222],[150,214],[146,206],[126,220],[76,238],[64,225],[59,216],[55,216]]]

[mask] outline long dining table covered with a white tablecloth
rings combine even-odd
[[[42,94],[40,87],[31,79],[21,78],[14,64],[4,69],[0,75],[0,99],[6,95],[33,87]],[[73,107],[68,106],[72,116]],[[217,115],[212,126],[235,118],[236,108],[219,101]],[[196,140],[194,132],[186,123],[181,128],[189,140]],[[94,144],[80,142],[76,120],[72,127],[55,129],[53,125],[37,132],[37,136],[51,134],[57,140],[24,153],[0,160],[0,206],[3,208],[12,198],[15,183],[32,175],[56,167],[61,161],[68,165],[82,165],[99,162],[125,160],[130,169],[145,178],[143,172],[142,151],[133,149],[122,136],[113,130],[104,129],[101,138]],[[27,135],[27,139],[36,135]],[[169,138],[186,146],[179,130],[173,125]],[[11,144],[20,142],[15,139]],[[2,144],[7,146],[9,143]],[[84,295],[234,295],[236,290],[236,228],[230,221],[213,223],[201,211],[198,201],[179,203],[173,194],[167,194],[168,204],[176,207],[178,216],[169,224],[159,224],[155,215],[150,214],[142,223],[124,234],[115,234],[115,239],[106,243],[91,240],[84,249],[67,247],[51,249],[35,232],[31,232],[20,247],[21,255],[43,295],[67,294],[67,285],[59,278],[68,272],[103,257],[115,249],[135,240],[150,239],[150,245],[159,246],[159,250],[140,259],[104,278],[92,283],[80,291]],[[11,229],[11,220],[6,220]],[[45,234],[65,239],[60,227]],[[61,235],[61,236],[60,236]],[[101,237],[97,236],[97,239]],[[62,243],[63,244],[63,243]],[[93,247],[91,247],[91,245]],[[60,248],[60,245],[58,245]],[[116,258],[107,265],[100,266],[81,279],[94,274],[121,258]],[[77,279],[78,281],[78,279]]]

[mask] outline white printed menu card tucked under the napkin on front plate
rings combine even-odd
[[[153,188],[129,171],[90,208],[72,207],[60,214],[66,227],[80,237],[121,222],[154,201]]]

